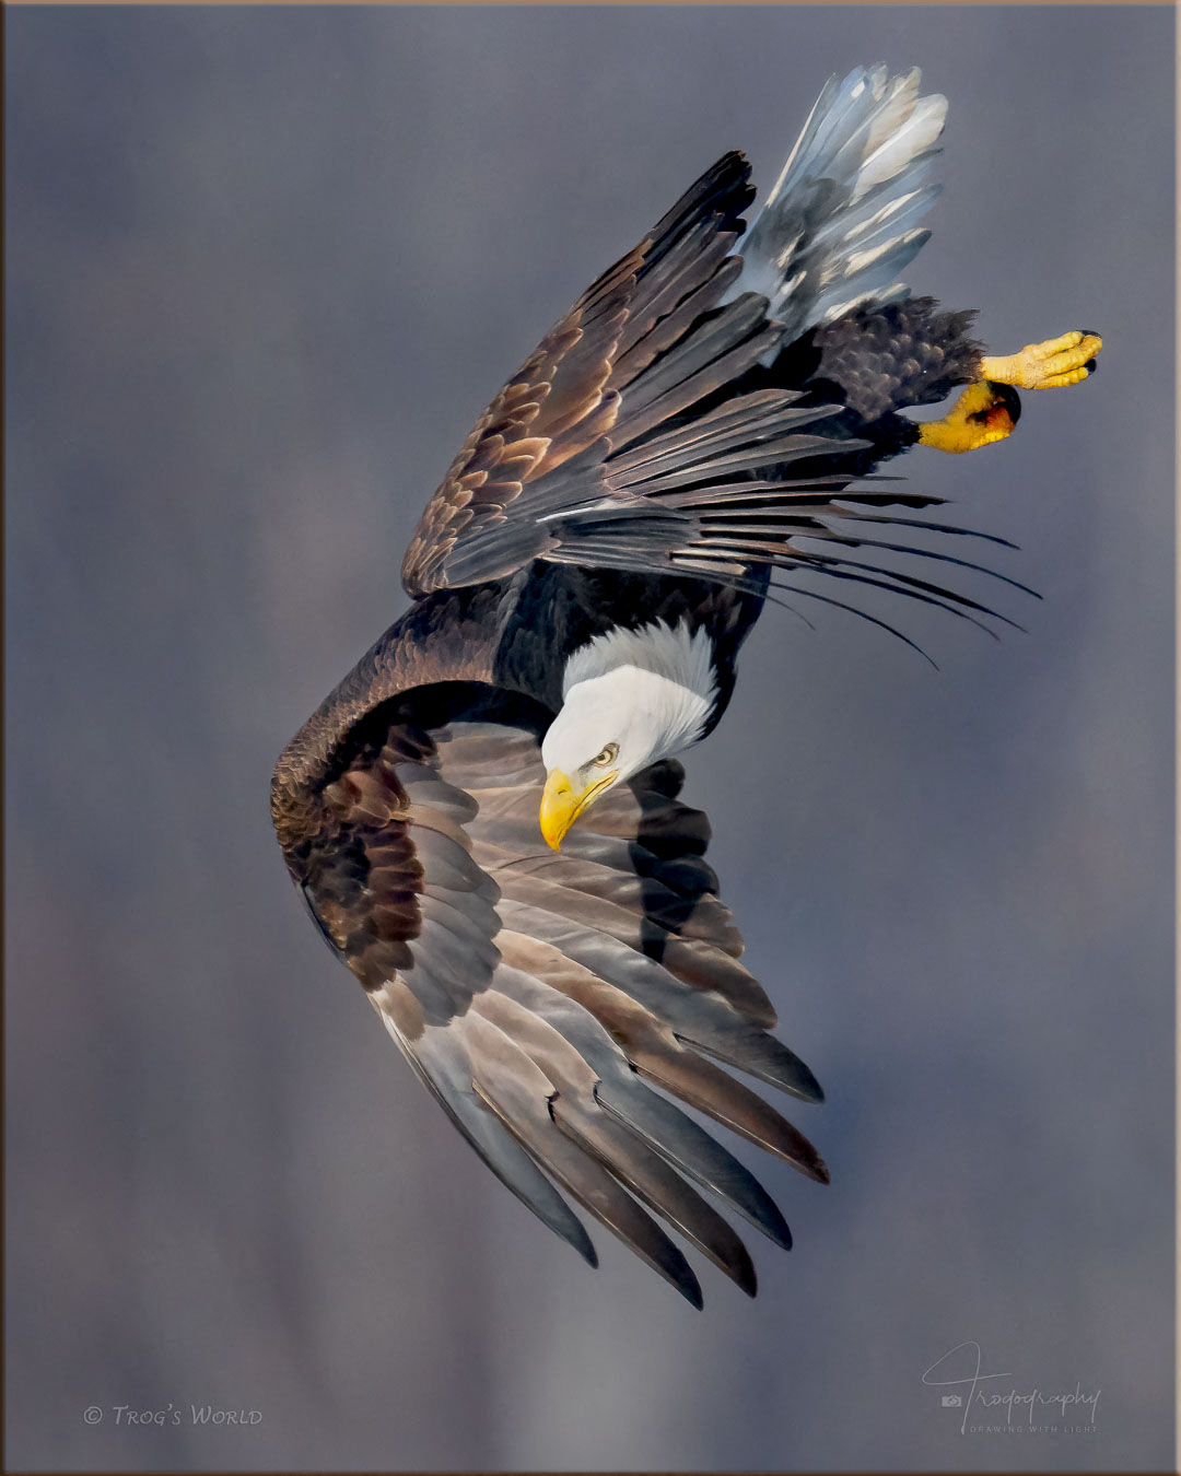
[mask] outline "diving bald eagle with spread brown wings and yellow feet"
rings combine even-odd
[[[940,528],[909,515],[939,499],[874,468],[1001,440],[1017,388],[1076,384],[1101,347],[1072,332],[988,357],[971,313],[908,295],[945,112],[918,71],[859,68],[825,86],[750,223],[746,158],[703,174],[480,418],[406,552],[409,610],[275,770],[295,886],[459,1131],[590,1265],[565,1194],[695,1306],[648,1210],[756,1280],[689,1181],[791,1238],[673,1098],[828,1173],[725,1069],[822,1100],[740,961],[676,754],[722,719],[777,573],[824,576],[793,587],[846,608],[861,582],[983,615],[877,562],[949,555],[905,542]],[[957,387],[940,421],[899,413]]]

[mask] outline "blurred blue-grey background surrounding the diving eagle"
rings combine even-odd
[[[9,1466],[1171,1466],[1172,13],[4,19]],[[936,673],[771,613],[689,762],[834,1175],[740,1150],[796,1249],[753,1247],[753,1303],[703,1268],[698,1315],[483,1169],[267,782],[540,334],[878,59],[951,99],[912,285],[995,351],[1107,347],[1005,446],[898,468],[1022,545],[1042,602],[958,587],[1029,635],[874,605]],[[921,1377],[964,1340],[1094,1429],[961,1435]]]

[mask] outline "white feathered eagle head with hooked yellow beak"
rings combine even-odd
[[[573,652],[562,708],[542,741],[542,834],[554,847],[602,794],[697,742],[717,698],[706,630],[616,627]]]

